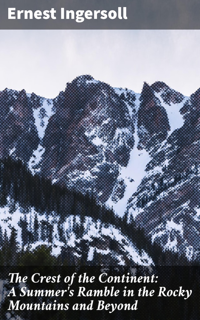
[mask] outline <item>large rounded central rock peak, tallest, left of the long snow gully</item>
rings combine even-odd
[[[56,111],[45,131],[42,173],[107,201],[119,165],[127,166],[134,144],[134,125],[124,99],[91,76],[67,84],[53,101]]]

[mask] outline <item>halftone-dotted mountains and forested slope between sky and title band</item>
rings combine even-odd
[[[0,92],[1,265],[199,264],[199,104],[90,75]]]

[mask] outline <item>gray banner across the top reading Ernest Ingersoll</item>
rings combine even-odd
[[[200,29],[200,1],[2,0],[0,29]]]

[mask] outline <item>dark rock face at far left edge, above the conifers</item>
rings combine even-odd
[[[26,163],[37,148],[39,138],[31,102],[25,90],[0,92],[1,158],[11,154]]]

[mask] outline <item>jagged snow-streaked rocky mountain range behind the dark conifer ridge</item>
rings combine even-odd
[[[92,194],[162,249],[199,260],[200,89],[184,97],[156,82],[139,94],[85,75],[52,100],[5,89],[0,105],[2,160],[21,159],[33,175]]]

